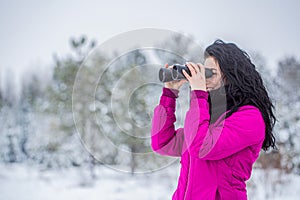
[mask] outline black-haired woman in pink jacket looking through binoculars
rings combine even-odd
[[[247,199],[246,181],[261,149],[275,148],[273,104],[246,52],[215,41],[205,63],[186,63],[187,80],[167,82],[154,110],[152,149],[181,157],[173,200]],[[166,67],[168,67],[166,65]],[[214,75],[205,79],[205,68]],[[179,88],[189,82],[190,109],[175,130]]]

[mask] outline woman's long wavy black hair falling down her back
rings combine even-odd
[[[234,43],[216,40],[204,52],[205,58],[209,56],[218,62],[223,73],[222,79],[226,85],[226,96],[233,100],[233,105],[227,112],[226,118],[242,105],[256,106],[262,113],[266,126],[262,149],[276,148],[273,135],[276,122],[273,113],[274,105],[249,55]]]

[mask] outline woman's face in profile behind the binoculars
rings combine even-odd
[[[216,90],[222,86],[222,72],[217,60],[209,56],[205,59],[204,67],[208,69],[212,69],[214,73],[212,77],[206,79],[206,90]]]

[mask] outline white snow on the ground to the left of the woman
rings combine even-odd
[[[165,200],[171,199],[177,179],[165,170],[132,176],[105,166],[97,168],[94,181],[82,180],[82,173],[82,169],[41,171],[23,165],[1,166],[0,199]]]

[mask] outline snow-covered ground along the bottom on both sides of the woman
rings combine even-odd
[[[0,165],[1,200],[167,200],[177,185],[174,164],[149,174],[130,175],[97,167],[90,180],[88,169],[41,170],[26,165]],[[275,183],[270,183],[273,180]],[[248,182],[249,199],[299,199],[300,176],[254,170]]]

